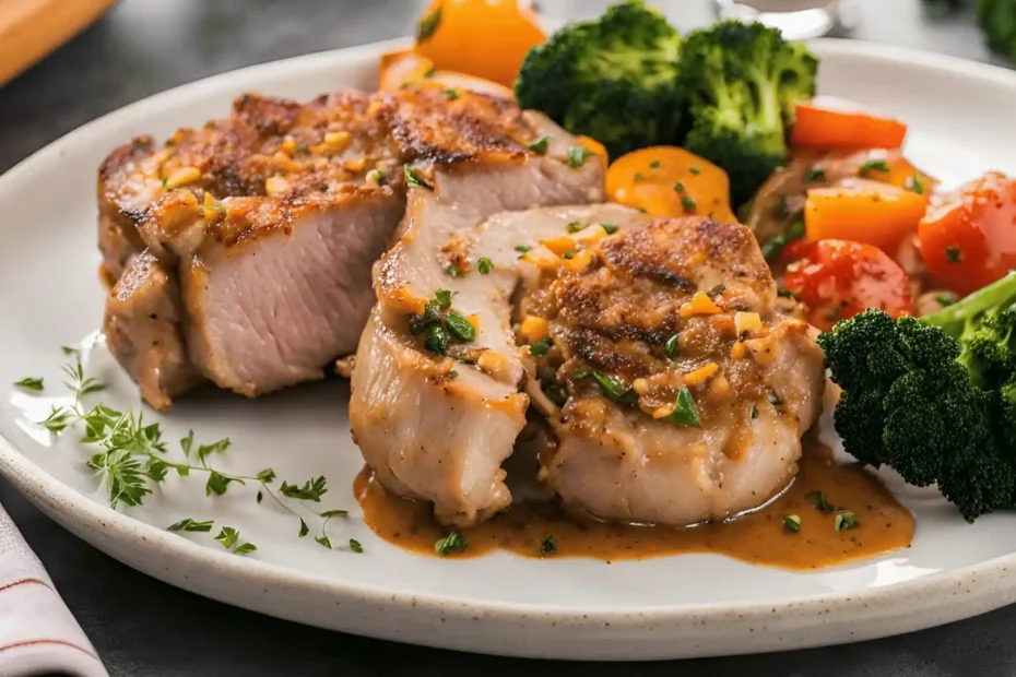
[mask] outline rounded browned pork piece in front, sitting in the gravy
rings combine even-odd
[[[618,233],[531,289],[522,322],[546,324],[537,373],[562,403],[541,478],[570,509],[624,522],[767,501],[796,473],[825,383],[807,325],[775,304],[751,231],[706,217]]]

